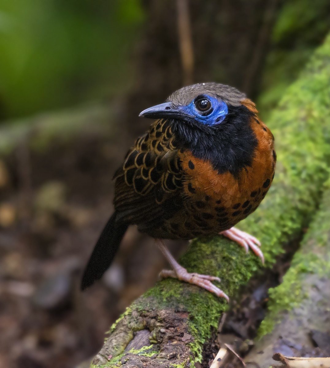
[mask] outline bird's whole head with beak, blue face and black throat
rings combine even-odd
[[[140,116],[166,119],[178,148],[237,175],[252,162],[258,139],[251,128],[255,105],[236,88],[218,83],[183,87]]]

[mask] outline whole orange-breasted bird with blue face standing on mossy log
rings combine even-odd
[[[102,277],[128,226],[155,239],[172,270],[161,277],[195,284],[218,297],[216,276],[189,273],[164,240],[222,234],[264,262],[260,242],[236,227],[265,197],[274,178],[274,136],[255,103],[215,82],[185,86],[139,116],[155,119],[115,172],[114,213],[82,277],[82,290]]]

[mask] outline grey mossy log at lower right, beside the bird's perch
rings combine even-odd
[[[274,353],[301,356],[301,347],[306,353],[314,349],[315,333],[322,353],[330,354],[329,337],[325,338],[330,326],[330,180],[325,187],[320,209],[283,283],[269,290],[269,311],[259,329],[262,339],[245,362],[269,367]]]

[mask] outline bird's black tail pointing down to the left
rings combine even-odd
[[[102,277],[117,253],[128,225],[116,223],[116,216],[117,213],[115,212],[106,223],[106,226],[104,226],[99,240],[97,240],[91,258],[89,258],[88,265],[85,268],[84,276],[82,276],[81,290],[85,290],[86,287],[91,286]]]

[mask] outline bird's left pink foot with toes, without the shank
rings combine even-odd
[[[209,275],[200,275],[199,273],[189,273],[187,270],[180,266],[176,271],[173,270],[162,270],[159,273],[159,276],[162,278],[172,277],[173,279],[182,280],[188,282],[189,284],[197,285],[203,289],[210,291],[213,294],[216,294],[218,297],[224,297],[227,301],[229,301],[228,296],[220,290],[218,287],[212,284],[211,281],[221,280],[216,276]]]

